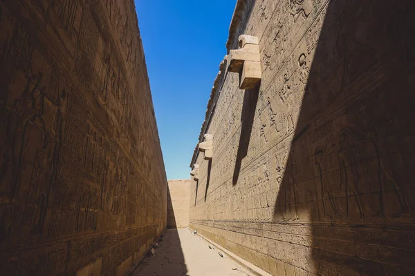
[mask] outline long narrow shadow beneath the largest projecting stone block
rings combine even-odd
[[[254,89],[245,90],[245,94],[243,95],[241,137],[239,137],[237,159],[235,161],[234,174],[232,177],[232,184],[234,186],[238,183],[242,159],[248,155],[249,141],[252,132],[252,125],[254,124],[255,119],[255,108],[257,106],[258,95],[259,86]]]

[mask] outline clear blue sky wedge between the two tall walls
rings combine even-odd
[[[190,161],[237,0],[136,0],[167,179]]]

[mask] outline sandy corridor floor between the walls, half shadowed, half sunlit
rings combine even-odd
[[[167,229],[155,255],[147,255],[135,276],[219,276],[248,275],[232,259],[193,235],[188,228]]]

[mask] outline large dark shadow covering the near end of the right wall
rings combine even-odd
[[[311,222],[318,275],[415,275],[412,2],[330,1],[312,65],[298,59],[274,221]]]

